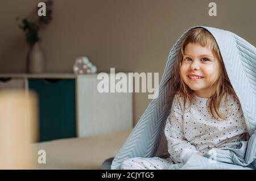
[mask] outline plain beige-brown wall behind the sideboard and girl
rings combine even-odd
[[[0,0],[0,73],[26,70],[28,46],[15,18],[30,14],[38,2]],[[230,30],[256,45],[256,1],[213,1],[216,17],[208,15],[209,2],[56,0],[53,20],[42,33],[46,70],[70,73],[83,55],[99,72],[158,72],[161,79],[172,45],[195,25]],[[135,122],[150,102],[147,95],[134,95]]]

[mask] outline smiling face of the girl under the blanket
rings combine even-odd
[[[189,43],[180,67],[181,78],[201,98],[209,98],[220,73],[220,61],[207,47]],[[212,86],[212,87],[211,87]]]

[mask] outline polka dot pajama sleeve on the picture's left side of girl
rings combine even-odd
[[[198,153],[195,146],[185,140],[183,135],[183,116],[181,111],[181,103],[177,101],[175,95],[171,113],[166,121],[164,134],[167,139],[168,152],[172,161],[175,163],[185,163],[191,157],[192,153]]]

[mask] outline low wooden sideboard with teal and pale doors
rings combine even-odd
[[[39,142],[133,127],[133,93],[100,93],[98,82],[97,74],[0,74],[0,90],[36,92]]]

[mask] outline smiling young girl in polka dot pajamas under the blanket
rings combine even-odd
[[[187,162],[193,153],[206,156],[246,140],[240,102],[214,37],[204,28],[190,30],[177,57],[170,78],[174,100],[164,129],[170,158],[130,158],[121,169],[165,169]]]

